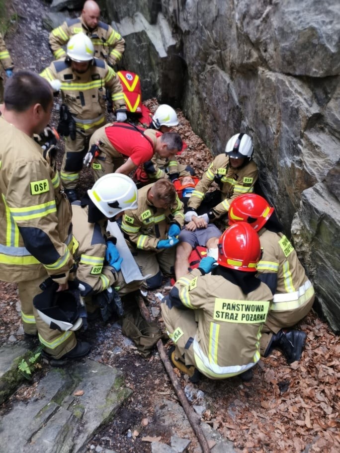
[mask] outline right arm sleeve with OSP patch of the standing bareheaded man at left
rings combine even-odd
[[[25,248],[55,282],[66,284],[73,267],[68,248],[71,244],[66,242],[67,237],[60,237],[63,228],[58,224],[63,219],[57,215],[56,193],[47,162],[33,160],[18,165],[8,183],[6,203]]]

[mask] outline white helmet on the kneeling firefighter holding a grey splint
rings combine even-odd
[[[124,174],[110,173],[102,176],[87,193],[99,211],[109,219],[125,209],[137,209],[136,184]]]

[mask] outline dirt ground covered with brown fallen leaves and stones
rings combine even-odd
[[[41,15],[48,6],[40,0],[13,1],[19,20],[13,23],[5,37],[7,47],[15,63],[15,69],[30,69],[40,72],[52,60],[43,29]],[[37,13],[39,11],[39,13]],[[155,99],[145,101],[154,111]],[[190,124],[180,111],[180,125],[176,128],[188,148],[179,160],[192,165],[201,175],[211,160],[209,150],[193,133]],[[57,114],[52,124],[56,125]],[[60,146],[59,159],[62,155]],[[84,192],[92,183],[89,170],[82,174]],[[162,288],[160,291],[167,294]],[[159,299],[149,292],[150,308],[158,312]],[[0,283],[0,345],[24,341],[20,330],[16,286]],[[164,328],[160,314],[156,315]],[[223,437],[232,441],[237,452],[321,452],[340,451],[339,338],[312,311],[299,325],[307,333],[302,360],[288,366],[278,351],[260,360],[255,367],[255,376],[250,383],[242,383],[238,377],[222,381],[207,378],[194,387],[205,393],[202,418]],[[121,334],[118,324],[104,325],[100,320],[90,323],[87,331],[79,337],[92,344],[90,357],[123,370],[126,385],[133,390],[132,396],[88,444],[106,447],[116,452],[150,453],[150,443],[143,437],[161,437],[169,443],[170,430],[165,430],[155,418],[156,395],[175,398],[170,380],[158,353],[144,359]],[[44,365],[41,373],[46,371]],[[25,399],[34,392],[36,380],[22,385],[6,404],[0,407],[0,416],[16,399]],[[178,373],[180,384],[187,384]],[[194,404],[195,402],[193,402]],[[131,433],[131,436],[130,436]],[[188,452],[193,453],[197,441],[192,439]]]

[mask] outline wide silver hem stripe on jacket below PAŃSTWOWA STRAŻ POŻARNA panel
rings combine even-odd
[[[231,367],[220,367],[216,363],[212,363],[201,350],[196,337],[193,341],[193,351],[198,370],[209,377],[224,379],[225,377],[237,376],[254,367],[254,362],[247,365],[235,365]]]

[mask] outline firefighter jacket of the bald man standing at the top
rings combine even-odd
[[[85,33],[90,38],[96,58],[106,60],[110,66],[114,66],[121,60],[125,49],[125,41],[121,35],[110,25],[100,21],[94,30],[89,30],[82,17],[68,19],[51,31],[49,43],[56,60],[66,57],[62,46],[77,33]]]

